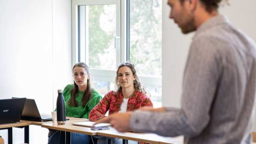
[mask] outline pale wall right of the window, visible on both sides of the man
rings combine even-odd
[[[230,0],[230,6],[220,8],[237,28],[256,41],[256,0]],[[189,44],[194,33],[181,34],[181,30],[169,19],[167,0],[162,7],[162,98],[163,106],[180,107],[183,70]],[[256,130],[256,128],[254,128]]]

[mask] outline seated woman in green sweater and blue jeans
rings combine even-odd
[[[63,90],[66,116],[88,119],[92,108],[101,100],[100,94],[91,88],[89,67],[85,63],[73,66],[74,84],[67,85]],[[60,143],[60,132],[50,130],[48,144]],[[91,137],[80,133],[71,133],[72,144],[89,144]]]

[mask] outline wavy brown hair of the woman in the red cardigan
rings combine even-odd
[[[116,83],[116,89],[117,91],[122,91],[122,87],[120,86],[120,84],[118,83],[118,70],[123,67],[123,66],[128,66],[134,77],[135,77],[135,80],[134,80],[134,89],[138,90],[138,91],[141,91],[142,93],[146,94],[147,96],[150,96],[150,94],[146,91],[145,87],[142,86],[142,84],[140,83],[139,81],[139,77],[137,76],[137,73],[136,73],[136,69],[135,69],[135,66],[134,64],[131,63],[131,61],[126,61],[126,62],[122,62],[119,66],[117,66],[117,75],[116,75],[116,78],[115,78],[115,83]],[[116,92],[117,92],[116,91]]]

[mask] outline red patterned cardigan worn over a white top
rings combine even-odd
[[[120,107],[123,101],[122,91],[110,91],[102,100],[92,109],[89,114],[90,121],[96,121],[103,118],[106,112],[109,110],[109,115],[120,111]],[[135,111],[143,106],[153,107],[153,103],[150,98],[147,97],[141,91],[135,90],[134,95],[129,98],[126,111]]]

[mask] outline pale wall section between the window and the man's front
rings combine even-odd
[[[183,35],[169,19],[167,0],[162,5],[162,105],[180,107],[181,85],[192,34]]]

